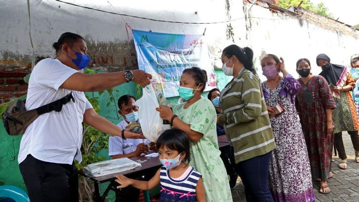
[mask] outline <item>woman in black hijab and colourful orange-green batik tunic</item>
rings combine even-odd
[[[317,56],[317,65],[322,67],[319,74],[324,77],[332,91],[336,109],[332,111],[334,122],[334,144],[341,159],[339,168],[346,169],[346,153],[344,149],[342,131],[348,131],[351,142],[355,150],[355,162],[359,163],[359,121],[356,108],[351,95],[355,87],[355,82],[347,68],[342,65],[330,63],[330,58],[326,54]]]

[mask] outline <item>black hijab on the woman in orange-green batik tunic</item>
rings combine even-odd
[[[327,80],[328,84],[333,84],[334,86],[336,86],[337,82],[342,77],[343,71],[345,70],[345,66],[331,64],[330,58],[326,54],[319,54],[317,56],[317,65],[318,66],[319,66],[319,64],[318,64],[319,59],[328,61],[328,64],[326,64],[325,66],[322,66],[322,72],[319,75],[324,77]]]

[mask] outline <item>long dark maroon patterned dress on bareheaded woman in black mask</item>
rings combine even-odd
[[[297,92],[297,111],[307,143],[312,178],[327,181],[331,170],[334,134],[327,132],[326,109],[335,109],[328,83],[313,76]],[[333,110],[334,111],[334,110]]]

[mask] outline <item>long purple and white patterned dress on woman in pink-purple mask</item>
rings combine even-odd
[[[295,110],[295,94],[300,84],[291,75],[282,78],[270,89],[262,83],[267,106],[281,104],[285,112],[270,116],[276,149],[269,165],[269,188],[276,202],[316,201],[308,152],[299,118]]]

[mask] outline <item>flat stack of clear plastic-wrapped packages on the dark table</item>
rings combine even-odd
[[[84,167],[84,173],[87,176],[98,177],[132,170],[140,166],[140,163],[132,161],[129,158],[120,158],[89,164]]]

